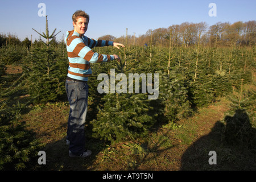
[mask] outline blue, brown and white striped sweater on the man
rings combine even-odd
[[[93,47],[113,46],[112,41],[89,39],[72,30],[67,32],[65,44],[69,60],[68,77],[76,80],[88,81],[88,77],[92,75],[90,63],[114,60],[113,55],[102,55],[92,51]]]

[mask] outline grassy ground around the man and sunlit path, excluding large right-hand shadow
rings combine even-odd
[[[214,122],[224,117],[228,101],[221,102],[217,106],[200,110],[189,119],[175,124],[168,123],[148,135],[148,138],[140,140],[110,145],[91,138],[88,134],[87,146],[93,154],[86,159],[68,157],[65,132],[69,107],[66,103],[35,106],[34,110],[23,116],[23,120],[27,121],[30,129],[46,144],[44,150],[47,165],[41,167],[44,170],[180,170],[187,148],[207,135]],[[223,112],[216,115],[216,110]],[[205,151],[209,150],[212,149],[205,148]],[[205,160],[205,164],[207,163],[208,159]]]

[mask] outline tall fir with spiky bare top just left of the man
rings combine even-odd
[[[46,17],[46,34],[38,34],[47,39],[47,42],[42,42],[44,47],[32,48],[25,59],[27,64],[23,69],[28,78],[28,92],[34,98],[34,103],[57,101],[65,94],[68,61],[61,49],[51,46],[52,41],[49,39],[55,38],[55,31],[56,29],[49,35]]]

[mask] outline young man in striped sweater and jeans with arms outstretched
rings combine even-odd
[[[74,30],[68,31],[65,43],[68,51],[68,75],[66,91],[70,105],[67,130],[67,144],[69,144],[69,156],[84,158],[92,154],[85,149],[84,125],[87,113],[88,101],[88,77],[92,74],[90,63],[102,63],[118,59],[117,55],[102,55],[93,52],[96,46],[118,46],[123,44],[108,40],[89,39],[84,34],[88,28],[89,15],[78,10],[73,16]]]

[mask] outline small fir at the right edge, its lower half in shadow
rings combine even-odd
[[[252,83],[255,86],[255,83]],[[256,92],[245,89],[241,80],[240,93],[228,96],[230,111],[226,115],[222,138],[226,144],[235,144],[256,152],[255,100]],[[233,115],[233,116],[230,116]]]

